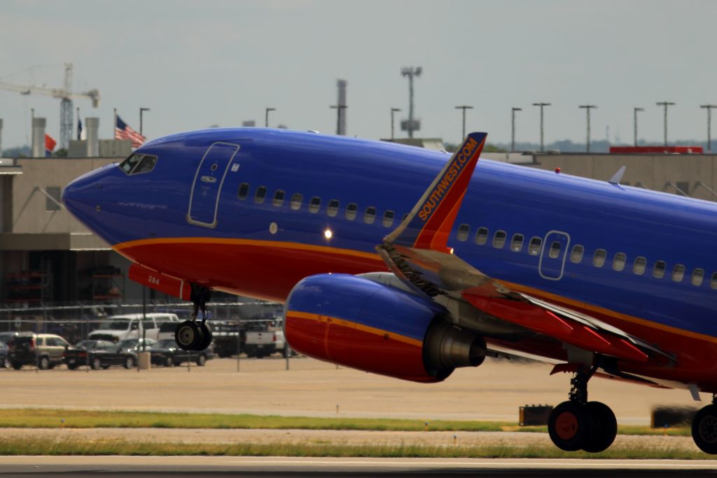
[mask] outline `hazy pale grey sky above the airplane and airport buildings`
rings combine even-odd
[[[538,141],[546,101],[546,142],[584,141],[581,103],[592,137],[661,141],[706,138],[704,103],[717,103],[717,1],[151,1],[4,0],[0,3],[0,80],[62,85],[75,65],[75,90],[98,88],[100,137],[113,108],[150,138],[205,128],[263,126],[336,129],[336,79],[348,80],[348,134],[390,134],[391,106],[408,109],[402,66],[415,81],[417,136],[460,139],[467,129],[508,142],[511,107],[521,107],[516,140]],[[34,65],[39,65],[34,67]],[[32,69],[27,69],[33,67]],[[60,100],[0,90],[4,148],[29,139],[30,108],[59,136]],[[715,119],[717,122],[717,112]],[[397,117],[397,120],[399,118]],[[717,126],[714,128],[717,136]],[[404,136],[404,133],[399,133]]]

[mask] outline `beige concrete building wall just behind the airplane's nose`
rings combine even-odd
[[[120,158],[27,158],[18,159],[22,174],[13,177],[12,233],[86,233],[87,228],[67,210],[47,211],[46,196],[35,187],[47,190],[48,186],[63,190],[72,179]]]

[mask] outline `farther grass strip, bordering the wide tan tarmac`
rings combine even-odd
[[[222,413],[152,413],[138,411],[81,411],[0,409],[4,428],[269,428],[302,430],[424,431],[422,420],[396,418],[312,418],[300,416],[229,415]],[[535,431],[546,426],[517,426],[501,421],[429,421],[429,431]],[[663,430],[621,426],[625,435],[690,436],[689,428]]]

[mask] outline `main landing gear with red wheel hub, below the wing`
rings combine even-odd
[[[587,401],[587,383],[596,370],[597,365],[579,367],[570,380],[569,400],[550,414],[548,433],[559,449],[597,453],[612,445],[617,436],[612,410],[604,403]]]

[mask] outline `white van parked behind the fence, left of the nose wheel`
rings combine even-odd
[[[90,332],[90,339],[113,340],[119,342],[125,339],[158,339],[159,328],[162,324],[171,322],[179,323],[176,314],[152,312],[147,314],[146,320],[142,320],[142,314],[124,314],[105,317],[97,329]],[[146,331],[145,331],[146,329]],[[146,332],[146,335],[145,335]]]

